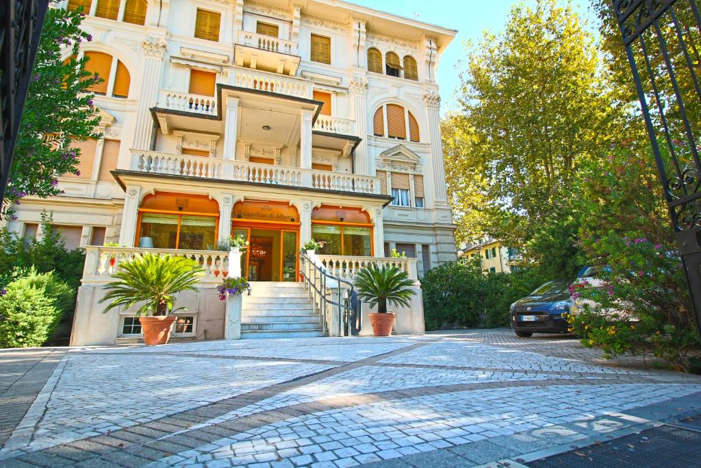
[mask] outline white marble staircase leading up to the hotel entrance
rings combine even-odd
[[[243,298],[241,338],[324,336],[304,283],[254,281]]]

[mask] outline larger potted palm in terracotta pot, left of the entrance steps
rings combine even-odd
[[[112,301],[104,312],[145,302],[137,311],[144,342],[164,345],[170,337],[175,312],[185,309],[175,309],[174,295],[196,290],[203,274],[203,268],[189,258],[145,253],[119,264],[118,271],[112,274],[117,281],[104,286],[109,292],[100,302]]]

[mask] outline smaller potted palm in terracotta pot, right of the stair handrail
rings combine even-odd
[[[378,267],[373,263],[355,275],[353,285],[358,289],[360,300],[367,302],[370,307],[377,305],[377,312],[370,313],[370,324],[375,336],[392,334],[395,314],[387,312],[387,305],[409,307],[411,296],[416,294],[411,289],[414,281],[409,279],[409,274],[394,265]]]

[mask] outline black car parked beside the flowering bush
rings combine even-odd
[[[567,333],[570,290],[567,281],[550,281],[511,305],[511,328],[517,336]]]

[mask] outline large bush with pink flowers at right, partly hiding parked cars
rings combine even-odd
[[[608,234],[584,243],[604,286],[577,288],[593,302],[570,317],[585,346],[601,347],[608,358],[653,355],[688,372],[701,345],[679,252],[639,235]]]

